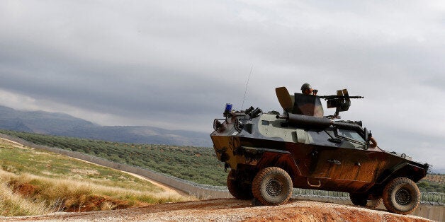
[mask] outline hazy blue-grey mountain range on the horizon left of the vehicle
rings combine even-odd
[[[137,144],[211,147],[209,134],[145,126],[100,126],[59,112],[19,111],[0,106],[0,129]]]

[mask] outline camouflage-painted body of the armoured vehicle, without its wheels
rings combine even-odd
[[[300,100],[295,99],[298,94],[290,96],[292,103]],[[299,113],[295,117],[309,110],[310,115],[325,122],[326,118],[320,117],[320,98],[311,95],[310,100],[312,105],[293,106],[292,112]],[[385,182],[395,177],[417,182],[429,167],[405,154],[369,146],[365,129],[356,123],[336,121],[325,127],[315,122],[308,127],[291,124],[276,114],[250,117],[244,112],[231,112],[226,119],[215,121],[219,124],[214,124],[210,137],[216,156],[227,168],[242,171],[247,182],[262,168],[276,166],[291,175],[293,187],[379,196]]]

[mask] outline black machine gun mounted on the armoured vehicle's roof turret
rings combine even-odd
[[[326,116],[329,119],[339,119],[339,112],[349,110],[351,106],[350,99],[361,99],[363,96],[349,96],[348,90],[345,88],[343,90],[337,90],[337,95],[321,95],[319,96],[322,99],[326,100],[327,108],[336,108],[334,115]]]

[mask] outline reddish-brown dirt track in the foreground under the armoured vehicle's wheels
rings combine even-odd
[[[1,221],[429,221],[356,206],[291,200],[281,206],[252,206],[252,201],[210,199],[116,211],[56,213],[1,218]]]

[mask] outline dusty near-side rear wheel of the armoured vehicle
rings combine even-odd
[[[276,167],[260,170],[252,182],[254,197],[264,205],[283,204],[291,198],[292,189],[291,177]]]

